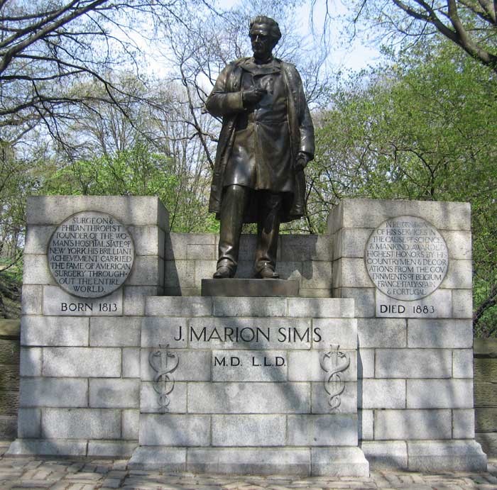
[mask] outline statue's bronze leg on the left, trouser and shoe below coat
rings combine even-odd
[[[214,279],[233,277],[238,265],[241,228],[249,199],[249,189],[231,185],[224,189],[221,205],[221,230],[219,231],[219,260]]]

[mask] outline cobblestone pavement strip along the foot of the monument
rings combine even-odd
[[[0,445],[0,454],[6,447]],[[369,478],[251,477],[126,469],[127,460],[0,457],[0,489],[497,489],[497,460],[486,473],[372,472]]]

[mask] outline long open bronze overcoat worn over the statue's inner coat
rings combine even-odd
[[[224,171],[226,169],[231,148],[234,143],[236,120],[246,109],[241,99],[241,64],[247,58],[241,58],[229,63],[217,77],[214,89],[207,98],[206,108],[213,116],[222,116],[222,129],[217,145],[216,162],[212,177],[209,211],[219,216],[222,202],[222,187]],[[290,146],[293,160],[298,152],[306,152],[310,157],[314,155],[314,128],[309,108],[305,101],[302,81],[297,69],[290,63],[276,60],[281,66],[283,82],[287,94],[288,125],[290,127]],[[304,213],[305,177],[304,172],[297,172],[294,176],[294,193],[289,194],[283,204],[282,221],[291,221],[300,218]],[[256,221],[256,209],[249,206],[244,218],[245,222]]]

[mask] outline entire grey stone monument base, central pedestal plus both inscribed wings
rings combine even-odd
[[[93,233],[102,213],[96,238],[50,241],[72,240],[73,224]],[[253,240],[242,241],[249,277]],[[9,454],[196,472],[485,469],[468,204],[343,201],[328,235],[280,238],[277,270],[298,290],[247,279],[245,296],[214,296],[241,294],[208,281],[215,249],[214,235],[168,233],[155,198],[30,199]],[[119,281],[100,281],[131,255]],[[80,285],[94,296],[67,292]]]

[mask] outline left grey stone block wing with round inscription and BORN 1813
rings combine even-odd
[[[153,197],[28,199],[12,453],[131,454],[141,320],[146,296],[163,294],[167,230],[168,213]],[[108,274],[94,280],[99,271],[122,270],[111,265],[129,265],[130,257],[124,286]],[[67,292],[75,287],[86,290]]]

